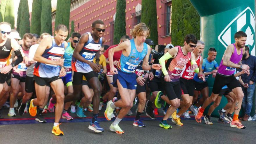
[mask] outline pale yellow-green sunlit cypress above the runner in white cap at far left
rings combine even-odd
[[[14,3],[13,0],[8,0],[5,7],[4,21],[11,24],[11,28],[14,29]]]

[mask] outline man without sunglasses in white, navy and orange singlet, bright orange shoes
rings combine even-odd
[[[55,121],[52,133],[56,136],[64,135],[59,128],[59,120],[64,107],[64,84],[61,77],[66,75],[63,67],[63,57],[67,42],[65,39],[68,35],[68,29],[65,25],[59,24],[56,27],[55,37],[45,37],[38,46],[35,52],[34,60],[37,61],[34,69],[35,93],[37,98],[31,99],[29,106],[29,113],[35,116],[37,113],[37,106],[42,106],[46,97],[46,85],[50,83],[57,100]]]

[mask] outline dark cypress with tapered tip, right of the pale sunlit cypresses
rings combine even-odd
[[[29,33],[30,31],[30,23],[29,23],[29,5],[28,0],[22,0],[22,10],[20,14],[20,21],[19,24],[19,35],[23,37],[25,33]]]

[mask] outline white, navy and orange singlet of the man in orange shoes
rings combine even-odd
[[[52,36],[52,46],[49,49],[45,49],[42,57],[52,61],[61,59],[65,52],[65,42],[58,46]],[[61,67],[59,65],[51,65],[37,62],[34,68],[34,75],[43,78],[51,78],[60,74]]]

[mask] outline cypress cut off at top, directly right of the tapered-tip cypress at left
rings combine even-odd
[[[30,33],[36,33],[36,34],[40,35],[41,11],[42,11],[42,0],[33,0]]]

